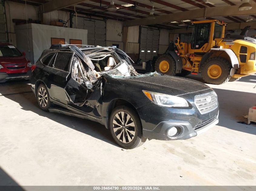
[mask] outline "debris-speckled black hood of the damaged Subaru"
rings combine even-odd
[[[118,81],[125,86],[169,95],[188,94],[210,88],[195,80],[169,75],[121,78]]]

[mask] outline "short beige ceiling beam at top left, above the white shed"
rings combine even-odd
[[[43,13],[56,11],[62,8],[66,8],[71,5],[77,5],[78,3],[85,2],[88,0],[52,0],[41,5]]]

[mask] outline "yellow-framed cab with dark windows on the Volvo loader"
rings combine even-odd
[[[217,20],[195,21],[188,53],[204,54],[224,38],[224,24]]]

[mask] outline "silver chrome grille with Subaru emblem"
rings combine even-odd
[[[201,114],[208,113],[218,107],[217,94],[212,91],[195,96],[195,105]]]

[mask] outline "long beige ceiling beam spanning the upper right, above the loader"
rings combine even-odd
[[[205,7],[196,10],[189,10],[183,12],[177,12],[172,14],[164,14],[156,16],[155,19],[135,19],[132,21],[124,22],[125,27],[136,26],[136,25],[148,25],[148,24],[157,24],[165,23],[172,21],[182,21],[187,19],[198,19],[198,18],[207,18],[207,17],[230,17],[230,16],[239,16],[239,15],[251,15],[256,14],[256,4],[252,4],[252,9],[246,11],[238,11],[239,5],[233,6],[221,6],[221,7]]]

